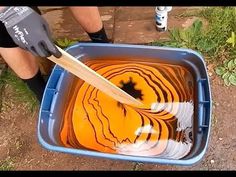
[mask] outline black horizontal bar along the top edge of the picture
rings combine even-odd
[[[17,6],[236,6],[235,0],[1,0]]]

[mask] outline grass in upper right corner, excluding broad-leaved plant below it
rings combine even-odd
[[[221,51],[229,52],[226,43],[232,31],[236,31],[235,7],[204,8],[196,15],[208,21],[208,28],[202,28],[202,22],[196,20],[187,29],[170,30],[170,40],[154,42],[152,45],[191,48],[210,59],[217,60]]]

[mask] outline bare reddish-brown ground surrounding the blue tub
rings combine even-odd
[[[185,11],[185,8],[173,9],[169,17],[170,28],[187,25],[189,18],[176,17]],[[165,38],[166,34],[157,34],[155,26],[148,26],[153,23],[153,8],[144,8],[143,12],[143,16],[137,16],[135,15],[138,13],[137,9],[130,11],[128,7],[123,9],[104,7],[102,17],[105,19],[109,37],[116,43],[147,43]],[[75,22],[68,17],[68,11],[58,8],[52,11],[45,10],[45,15],[47,13],[59,14],[58,18],[64,19],[58,20],[57,28],[60,28],[60,23],[68,22],[65,29],[54,31],[56,36],[68,36],[70,29],[76,30],[72,28]],[[53,19],[52,16],[55,17],[55,14],[48,15]],[[134,34],[133,38],[129,35],[135,29],[137,29],[136,40],[133,40]],[[80,31],[79,36],[85,36],[86,39],[80,27],[78,31]],[[147,37],[140,37],[142,35]],[[208,65],[208,71],[214,103],[210,142],[204,158],[194,166],[136,163],[48,151],[39,144],[37,139],[38,110],[32,114],[27,111],[24,104],[18,104],[14,100],[14,90],[11,88],[5,89],[6,93],[2,101],[7,102],[7,105],[4,105],[0,113],[0,162],[8,159],[9,163],[13,164],[14,170],[235,170],[236,87],[224,86],[222,80],[215,75],[212,65]]]

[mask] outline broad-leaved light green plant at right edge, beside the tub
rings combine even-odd
[[[236,85],[236,59],[225,61],[223,65],[216,67],[215,72],[221,76],[226,86]]]

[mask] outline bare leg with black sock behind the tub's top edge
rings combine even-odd
[[[92,42],[108,43],[98,7],[69,7],[76,21],[88,33]]]

